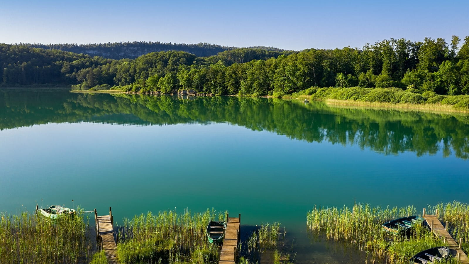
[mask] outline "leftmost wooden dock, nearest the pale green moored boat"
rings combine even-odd
[[[114,239],[114,222],[111,207],[109,215],[98,216],[94,210],[96,219],[96,244],[98,249],[104,250],[108,264],[118,264],[117,261],[117,242]]]

